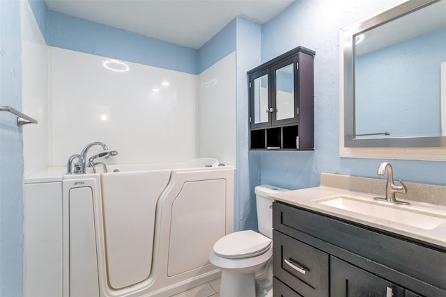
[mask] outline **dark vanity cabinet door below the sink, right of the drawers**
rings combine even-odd
[[[403,297],[404,289],[330,256],[330,296]]]

